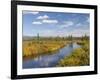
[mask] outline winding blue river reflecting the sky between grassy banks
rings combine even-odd
[[[78,44],[73,43],[61,48],[51,55],[41,55],[33,59],[23,60],[23,69],[55,67],[61,59],[68,56],[74,49],[79,47]]]

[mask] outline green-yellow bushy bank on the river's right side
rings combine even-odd
[[[75,49],[71,55],[62,59],[57,66],[84,66],[89,65],[89,41],[84,40],[77,42],[82,47]]]

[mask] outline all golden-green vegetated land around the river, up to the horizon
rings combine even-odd
[[[84,66],[89,65],[89,37],[32,37],[23,38],[23,59],[34,58],[40,55],[53,54],[66,45],[71,43],[81,45],[80,48],[75,49],[69,56],[65,56],[58,62],[58,67],[65,66]]]

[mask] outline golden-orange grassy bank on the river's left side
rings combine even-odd
[[[44,54],[52,54],[52,52],[61,49],[66,46],[67,41],[23,41],[23,57],[35,57]]]

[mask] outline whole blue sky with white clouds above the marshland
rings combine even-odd
[[[83,36],[89,35],[90,16],[87,13],[23,11],[23,36]]]

